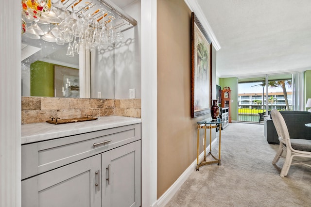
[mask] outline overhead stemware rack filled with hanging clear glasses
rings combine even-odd
[[[40,39],[50,43],[56,42],[60,46],[69,43],[67,52],[69,57],[79,54],[81,46],[86,50],[93,50],[96,47],[103,48],[105,45],[116,44],[124,39],[122,32],[137,25],[134,18],[110,0],[44,1],[50,2],[46,5],[50,5],[51,11],[42,12],[41,17],[35,15],[37,17],[33,19],[32,14],[36,14],[35,11],[32,14],[28,14],[28,10],[22,13],[22,43],[36,48],[42,48]],[[30,2],[32,1],[22,0],[23,7],[26,6],[26,3],[31,6]],[[52,17],[48,18],[52,14],[53,8],[57,10],[57,12],[53,12],[56,14],[57,21],[54,21]],[[36,23],[40,23],[40,26]],[[81,24],[84,26],[81,27]],[[75,29],[73,25],[75,25]],[[31,30],[28,30],[29,28]],[[45,31],[41,28],[44,28]]]

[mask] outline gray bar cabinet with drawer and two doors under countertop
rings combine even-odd
[[[141,205],[140,124],[22,145],[22,207]]]

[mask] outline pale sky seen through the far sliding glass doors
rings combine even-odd
[[[239,94],[247,94],[247,93],[262,93],[262,86],[260,85],[260,82],[256,83],[239,83]],[[283,92],[282,87],[277,88],[270,88],[268,89],[269,92]],[[288,88],[286,85],[286,91],[292,91],[292,88]],[[266,87],[264,87],[264,92],[266,92]]]

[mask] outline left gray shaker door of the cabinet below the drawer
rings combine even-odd
[[[100,207],[101,155],[71,163],[21,182],[22,207]],[[99,191],[100,190],[100,191]]]

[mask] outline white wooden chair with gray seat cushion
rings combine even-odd
[[[305,163],[311,160],[304,160],[304,161],[293,160],[294,157],[311,158],[311,140],[290,139],[290,134],[288,132],[284,118],[282,114],[276,109],[271,111],[271,118],[274,126],[276,127],[278,140],[280,141],[280,145],[278,147],[276,156],[273,159],[272,163],[276,164],[279,158],[282,157],[283,150],[286,151],[285,161],[280,176],[281,177],[286,176],[291,165],[294,164],[303,164],[311,167],[311,164]],[[292,163],[292,161],[296,162]]]

